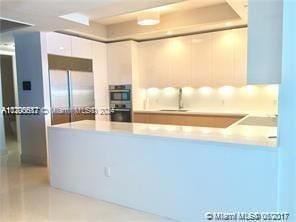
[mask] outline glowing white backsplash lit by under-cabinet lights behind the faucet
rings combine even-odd
[[[278,113],[278,85],[248,85],[220,88],[185,87],[182,90],[183,109],[213,112]],[[135,109],[160,110],[178,108],[178,89],[149,88],[140,90]]]

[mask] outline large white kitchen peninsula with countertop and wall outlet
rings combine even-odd
[[[275,135],[276,127],[239,123],[225,129],[91,120],[50,126],[50,181],[186,222],[203,221],[208,211],[274,210]]]

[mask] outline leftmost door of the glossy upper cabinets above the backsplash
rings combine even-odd
[[[169,73],[168,41],[155,40],[140,43],[140,73],[142,85],[149,87],[168,87],[172,82]]]

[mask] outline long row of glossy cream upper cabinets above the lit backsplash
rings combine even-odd
[[[247,78],[247,29],[140,43],[144,88],[241,86]]]

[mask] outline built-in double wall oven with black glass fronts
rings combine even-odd
[[[131,85],[110,85],[110,109],[111,121],[132,121],[132,98]]]

